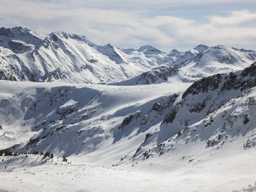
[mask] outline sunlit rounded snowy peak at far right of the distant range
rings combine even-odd
[[[195,81],[212,74],[243,70],[255,60],[255,51],[240,51],[224,45],[216,45],[198,53],[193,60],[180,63],[182,70],[179,75],[187,81]]]

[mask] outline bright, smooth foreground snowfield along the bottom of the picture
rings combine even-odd
[[[4,161],[0,191],[255,191],[252,185],[256,152],[253,149],[236,152],[210,153],[207,158],[191,163],[182,157],[162,159],[144,163],[140,168],[92,166],[73,161],[70,165],[56,158],[43,165],[16,168],[31,159],[34,163],[38,157],[1,157]],[[10,163],[10,158],[19,159],[11,159]],[[5,161],[10,163],[6,170]],[[159,165],[166,168],[159,170]]]

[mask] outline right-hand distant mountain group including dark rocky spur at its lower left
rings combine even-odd
[[[198,45],[188,52],[173,50],[171,65],[161,65],[139,76],[122,81],[120,85],[195,82],[213,74],[243,70],[256,60],[252,50],[234,49],[223,45]]]

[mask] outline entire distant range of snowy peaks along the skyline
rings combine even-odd
[[[40,35],[27,28],[0,28],[0,79],[100,84],[195,82],[241,70],[255,61],[252,50],[198,45],[190,51],[159,51],[99,45],[83,35]]]

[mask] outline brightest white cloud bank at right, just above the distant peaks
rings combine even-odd
[[[154,17],[147,23],[169,34],[177,42],[205,42],[206,44],[237,44],[241,40],[256,38],[256,27],[241,27],[240,24],[256,20],[256,14],[247,10],[232,12],[228,17],[212,16],[206,24],[177,17]],[[253,44],[253,42],[251,42]],[[245,44],[245,42],[241,43]],[[250,42],[246,42],[250,44]]]

